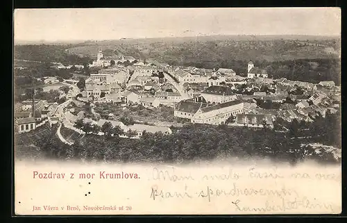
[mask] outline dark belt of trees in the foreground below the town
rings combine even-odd
[[[63,144],[55,131],[36,129],[16,136],[16,154],[36,152],[30,147],[30,144],[35,144],[42,156],[59,159],[186,163],[214,158],[260,157],[292,164],[304,159],[336,163],[340,160],[335,157],[334,151],[317,150],[307,144],[321,142],[341,148],[339,123],[339,115],[328,114],[325,118],[317,117],[312,124],[278,120],[275,129],[187,124],[180,129],[173,128],[174,132],[170,135],[144,132],[139,139],[119,138],[119,129],[101,128],[105,135],[86,134],[71,146]],[[37,136],[38,132],[46,135]]]

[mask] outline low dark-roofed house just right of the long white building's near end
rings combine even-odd
[[[264,124],[273,128],[271,115],[237,114],[236,126],[248,126],[262,128]]]

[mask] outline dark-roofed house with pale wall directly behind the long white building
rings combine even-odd
[[[220,85],[212,85],[206,88],[201,92],[201,97],[203,97],[208,104],[223,103],[237,99],[236,94],[232,92],[231,88]]]

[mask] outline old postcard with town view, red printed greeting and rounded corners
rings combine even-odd
[[[14,11],[15,215],[341,213],[340,8]]]

